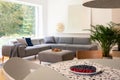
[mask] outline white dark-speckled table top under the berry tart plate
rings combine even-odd
[[[103,72],[95,75],[76,75],[71,72],[73,65],[92,65]],[[69,80],[120,80],[120,60],[116,59],[83,59],[51,64],[50,68],[63,74]]]

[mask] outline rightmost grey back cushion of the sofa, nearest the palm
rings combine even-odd
[[[73,38],[73,44],[91,44],[90,38],[78,38],[78,37],[74,37]]]

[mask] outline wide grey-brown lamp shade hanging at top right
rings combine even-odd
[[[83,6],[91,8],[120,8],[120,0],[93,0],[83,3]]]

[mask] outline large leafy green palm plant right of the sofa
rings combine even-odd
[[[113,29],[111,24],[108,24],[108,26],[92,25],[90,31],[91,39],[99,43],[103,51],[103,56],[108,57],[111,48],[117,43],[117,31]]]

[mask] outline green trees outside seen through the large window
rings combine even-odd
[[[34,34],[35,7],[0,0],[0,37]]]

